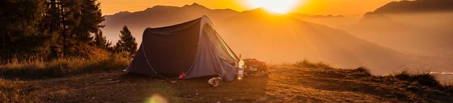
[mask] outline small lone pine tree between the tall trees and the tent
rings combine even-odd
[[[124,26],[120,33],[120,40],[118,40],[115,45],[116,50],[120,52],[125,51],[129,53],[129,56],[134,56],[137,52],[135,37],[132,36],[127,26]]]

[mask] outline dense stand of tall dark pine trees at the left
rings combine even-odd
[[[0,0],[0,57],[89,54],[104,27],[100,7],[98,0]]]

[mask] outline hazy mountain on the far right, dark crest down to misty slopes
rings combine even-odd
[[[453,72],[453,0],[390,2],[341,29],[411,55],[410,69]]]

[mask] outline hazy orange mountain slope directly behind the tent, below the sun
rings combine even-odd
[[[290,62],[304,58],[326,60],[339,67],[368,64],[383,74],[403,61],[393,49],[359,39],[346,31],[306,22],[264,8],[236,12],[231,9],[208,9],[199,4],[154,6],[116,20],[106,20],[104,32],[116,40],[120,26],[130,27],[141,42],[146,27],[164,27],[207,15],[222,39],[244,58]],[[107,33],[104,33],[107,34]]]

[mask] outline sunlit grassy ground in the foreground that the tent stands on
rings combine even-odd
[[[112,62],[113,63],[113,62]],[[113,63],[115,64],[115,63]],[[5,66],[2,66],[5,70]],[[96,68],[92,68],[96,70]],[[120,72],[58,78],[0,79],[5,103],[452,103],[453,86],[428,73],[373,76],[366,67],[340,69],[304,60],[272,66],[269,77],[246,77],[212,87],[215,76],[164,80]],[[2,74],[2,76],[5,76]],[[8,75],[6,75],[8,76]],[[24,76],[20,76],[24,77]],[[112,82],[113,81],[113,82]]]

